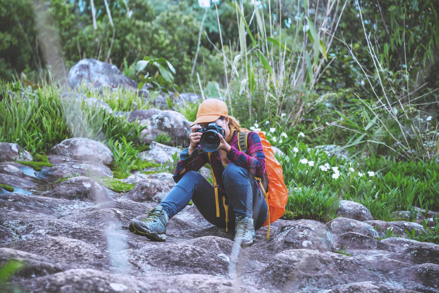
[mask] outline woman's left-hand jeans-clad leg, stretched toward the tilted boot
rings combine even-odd
[[[212,225],[225,227],[226,213],[219,198],[219,217],[216,217],[215,190],[212,184],[198,172],[189,171],[159,204],[169,218],[180,212],[192,199],[200,214]]]

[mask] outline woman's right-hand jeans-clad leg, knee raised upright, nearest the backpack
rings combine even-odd
[[[254,220],[255,230],[262,227],[267,218],[267,204],[259,184],[248,169],[234,162],[227,164],[223,182],[229,199],[229,226],[234,229],[235,216]]]

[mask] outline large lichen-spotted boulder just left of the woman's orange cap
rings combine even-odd
[[[141,125],[145,125],[140,135],[144,143],[151,143],[156,136],[169,135],[169,144],[172,146],[189,146],[191,123],[182,114],[171,110],[136,110],[131,111],[129,121],[138,119]]]

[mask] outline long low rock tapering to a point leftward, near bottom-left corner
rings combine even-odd
[[[103,243],[104,246],[106,243]],[[110,264],[107,253],[92,244],[62,236],[41,237],[6,243],[4,247],[44,255],[62,268],[96,268],[107,270]]]

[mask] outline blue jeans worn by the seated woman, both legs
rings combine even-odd
[[[235,216],[249,217],[254,220],[255,230],[262,227],[267,218],[267,204],[263,192],[254,176],[248,177],[248,169],[234,162],[227,164],[223,171],[226,189],[230,230],[235,229]],[[172,218],[187,206],[190,200],[202,216],[212,225],[226,227],[226,211],[219,194],[219,217],[216,217],[215,190],[212,184],[198,172],[185,173],[160,205]]]

